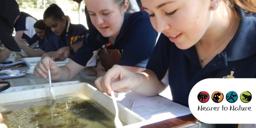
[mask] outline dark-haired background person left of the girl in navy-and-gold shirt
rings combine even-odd
[[[30,57],[42,56],[42,54],[45,53],[44,42],[46,38],[46,24],[44,20],[43,19],[37,20],[36,23],[34,24],[34,29],[36,34],[30,40],[28,40],[28,42],[29,44],[31,44],[35,41],[38,41],[39,48],[32,49],[26,44],[24,44],[24,42],[17,41],[19,48],[23,49],[23,51],[25,51]]]

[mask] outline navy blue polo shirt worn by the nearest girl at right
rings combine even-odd
[[[234,71],[235,78],[255,78],[256,75],[256,14],[241,15],[239,28],[227,47],[217,54],[204,68],[200,67],[195,46],[181,50],[161,34],[147,69],[153,70],[158,79],[168,72],[173,101],[188,106],[188,95],[197,82],[206,78],[222,78]]]

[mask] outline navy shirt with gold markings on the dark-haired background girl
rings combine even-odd
[[[88,30],[83,25],[71,23],[67,24],[66,31],[60,36],[49,30],[44,42],[45,52],[57,51],[62,47],[71,46],[83,41],[87,33]]]

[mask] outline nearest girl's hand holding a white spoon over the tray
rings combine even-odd
[[[137,75],[130,72],[119,65],[114,65],[101,76],[95,80],[95,85],[101,92],[105,92],[111,96],[111,91],[128,92],[136,85]]]

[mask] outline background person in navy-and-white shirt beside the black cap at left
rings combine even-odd
[[[22,38],[29,40],[35,34],[33,25],[36,20],[36,18],[28,13],[20,12],[20,15],[14,25],[16,31],[14,39],[16,41],[20,41]]]

